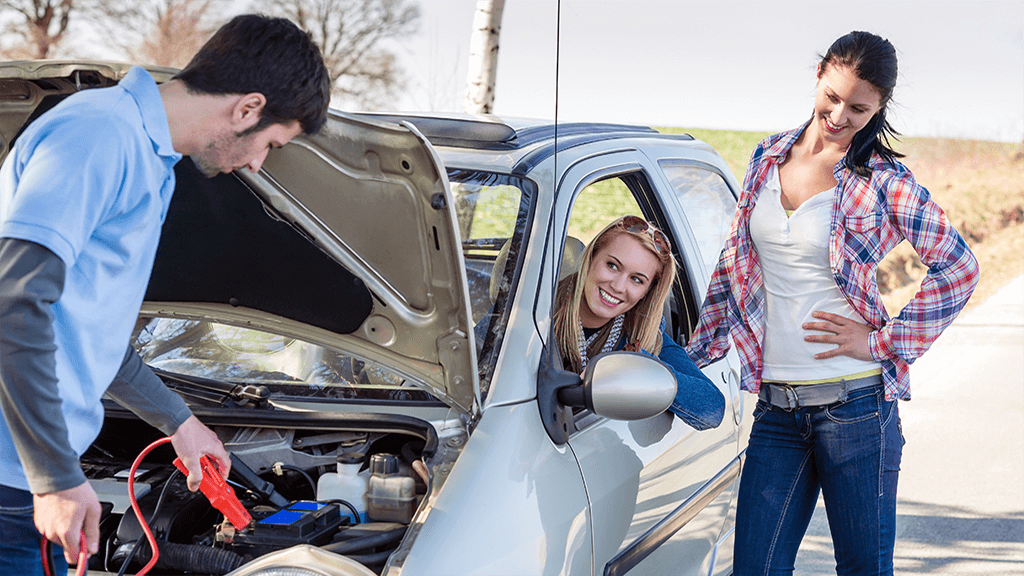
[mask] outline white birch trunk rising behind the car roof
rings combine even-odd
[[[466,74],[466,112],[470,114],[490,114],[495,108],[498,40],[504,11],[505,0],[476,2],[473,36],[469,41],[469,70]]]

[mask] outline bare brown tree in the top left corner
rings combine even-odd
[[[75,0],[0,0],[0,15],[6,16],[0,56],[52,57],[77,7]]]

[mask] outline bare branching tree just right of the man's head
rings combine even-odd
[[[294,20],[324,52],[332,91],[375,110],[406,86],[390,40],[417,32],[420,8],[411,0],[257,0],[267,13]]]

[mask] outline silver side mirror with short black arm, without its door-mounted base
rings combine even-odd
[[[565,406],[584,407],[605,418],[643,420],[672,406],[676,375],[656,358],[613,352],[591,361],[583,381],[559,388],[557,395]]]

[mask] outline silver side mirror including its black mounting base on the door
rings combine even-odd
[[[612,352],[594,358],[578,374],[561,369],[561,361],[549,353],[538,374],[538,405],[541,420],[555,444],[568,442],[567,408],[587,408],[613,420],[642,420],[672,406],[676,398],[676,375],[660,360],[633,352]],[[574,429],[574,428],[573,428]]]

